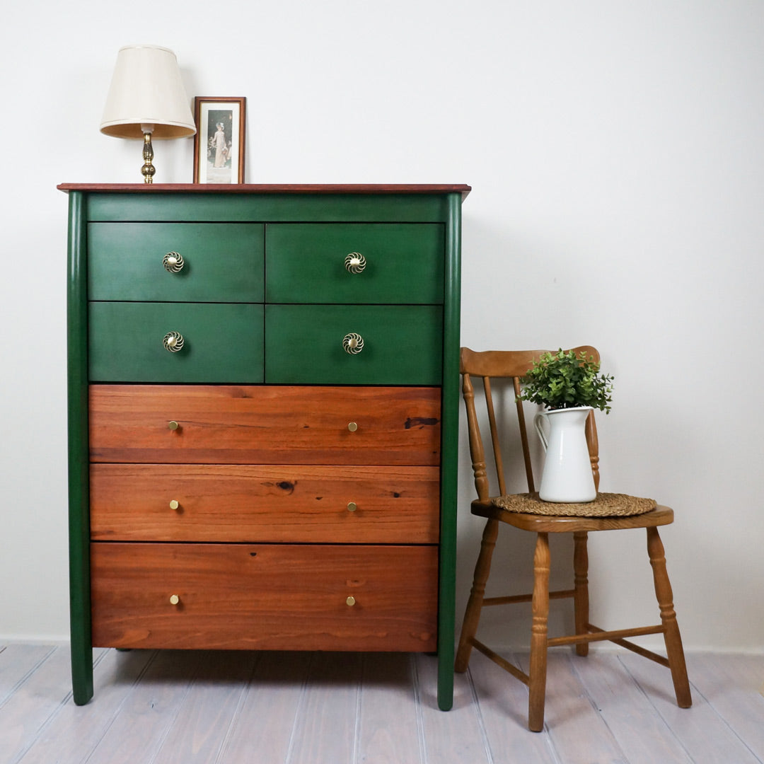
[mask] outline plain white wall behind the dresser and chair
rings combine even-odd
[[[685,644],[764,649],[762,406],[748,393],[764,376],[764,4],[219,8],[28,0],[4,12],[0,636],[66,636],[55,186],[140,180],[139,144],[98,125],[118,47],[154,42],[176,51],[189,98],[247,96],[248,182],[470,183],[463,344],[601,348],[617,380],[601,487],[675,507],[663,536]],[[191,141],[155,149],[157,182],[191,180]],[[460,615],[480,534],[466,455],[461,484]],[[591,542],[592,618],[605,626],[655,617],[642,534],[620,536]],[[529,540],[505,544],[497,571],[526,583],[513,560]]]

